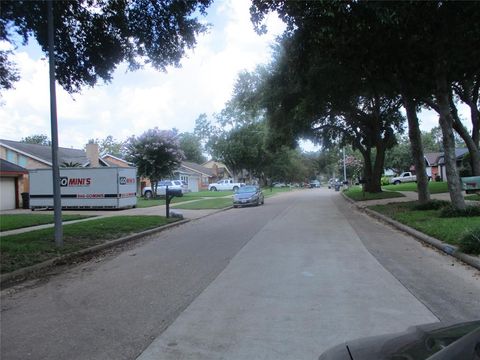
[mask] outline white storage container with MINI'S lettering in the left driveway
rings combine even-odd
[[[53,208],[52,169],[29,171],[30,208]],[[137,205],[137,169],[60,169],[63,209],[124,209]]]

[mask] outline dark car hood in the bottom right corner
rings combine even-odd
[[[420,325],[403,333],[348,341],[319,360],[480,360],[480,320]]]

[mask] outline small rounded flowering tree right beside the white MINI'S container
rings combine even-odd
[[[158,128],[130,137],[126,152],[127,160],[137,166],[138,175],[150,180],[154,196],[158,181],[170,176],[183,159],[175,132]]]

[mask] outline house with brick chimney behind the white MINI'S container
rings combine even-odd
[[[23,178],[18,181],[17,193],[28,192],[28,170],[44,169],[52,167],[52,147],[28,144],[19,141],[0,139],[0,159],[6,160],[13,165],[17,165],[27,171]],[[123,159],[119,159],[112,155],[99,156],[98,144],[87,144],[85,150],[58,148],[58,163],[60,167],[129,167],[131,164]],[[5,185],[7,190],[7,185]],[[11,192],[11,185],[8,187],[9,194]],[[2,199],[7,193],[3,192]],[[18,207],[19,204],[16,203]]]

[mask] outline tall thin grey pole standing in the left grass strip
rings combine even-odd
[[[50,123],[52,135],[53,214],[55,220],[55,244],[57,246],[63,246],[62,197],[60,193],[60,169],[58,166],[57,95],[55,92],[55,46],[52,3],[53,0],[47,1],[48,65],[50,72]]]

